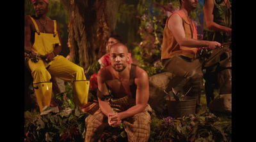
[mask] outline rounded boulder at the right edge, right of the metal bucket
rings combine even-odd
[[[210,111],[216,115],[230,116],[232,113],[232,94],[222,94],[216,97],[209,104]]]

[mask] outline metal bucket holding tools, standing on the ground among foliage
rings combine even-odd
[[[173,118],[183,117],[185,115],[195,115],[196,97],[183,97],[182,101],[170,101],[166,98],[168,115]]]

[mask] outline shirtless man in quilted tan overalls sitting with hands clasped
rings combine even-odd
[[[98,72],[99,107],[86,119],[85,141],[98,141],[104,127],[123,122],[128,141],[148,141],[152,108],[148,103],[146,71],[128,64],[128,50],[122,43],[111,46],[111,66]]]

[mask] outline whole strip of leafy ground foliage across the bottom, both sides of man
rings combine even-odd
[[[60,113],[25,112],[25,141],[83,141],[88,113],[66,108]],[[216,117],[209,110],[182,118],[151,118],[148,141],[232,141],[231,117]],[[124,127],[106,127],[100,141],[127,141]]]

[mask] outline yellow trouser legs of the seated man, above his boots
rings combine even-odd
[[[51,75],[65,81],[86,80],[83,67],[77,66],[61,55],[54,57],[49,63],[40,59],[36,63],[29,60],[28,64],[34,78],[33,83],[49,82]]]

